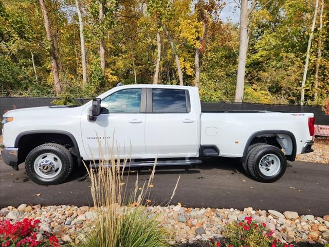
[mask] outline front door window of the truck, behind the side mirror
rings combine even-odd
[[[141,89],[125,89],[115,92],[101,101],[108,113],[139,113]]]

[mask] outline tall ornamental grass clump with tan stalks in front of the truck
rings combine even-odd
[[[117,158],[118,155],[115,155],[119,151],[109,145],[106,145],[105,151],[109,153],[109,158],[105,158],[99,143],[101,158],[98,169],[90,169],[85,165],[91,181],[95,220],[86,238],[78,245],[72,245],[82,247],[169,246],[172,233],[156,218],[150,218],[143,205],[145,197],[153,187],[156,164],[148,182],[145,181],[141,188],[139,188],[137,173],[134,192],[132,195],[127,195],[126,186],[129,175],[125,179],[124,172],[129,166],[128,159],[120,161]],[[173,195],[174,193],[175,190]]]

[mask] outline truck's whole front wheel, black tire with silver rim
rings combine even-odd
[[[73,168],[70,152],[59,144],[47,143],[34,148],[26,157],[28,177],[40,185],[62,183]]]

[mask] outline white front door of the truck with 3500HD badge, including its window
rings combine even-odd
[[[90,160],[140,158],[145,155],[146,89],[123,89],[101,100],[96,121],[82,123],[84,148]]]

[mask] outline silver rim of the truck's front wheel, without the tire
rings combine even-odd
[[[56,177],[62,170],[60,158],[53,153],[43,153],[34,160],[35,173],[44,179]]]

